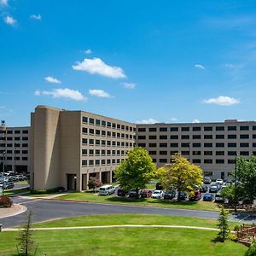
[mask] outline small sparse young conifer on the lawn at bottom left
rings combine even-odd
[[[18,238],[20,247],[19,255],[28,256],[32,251],[32,247],[34,246],[34,241],[32,240],[32,211],[28,213],[27,223],[24,228],[20,231],[20,237]]]

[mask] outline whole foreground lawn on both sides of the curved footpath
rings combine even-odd
[[[214,227],[215,220],[155,215],[113,214],[59,219],[37,227],[105,224],[183,224]],[[214,242],[216,231],[167,228],[38,230],[36,255],[174,255],[241,256],[247,247],[233,241]],[[15,255],[18,232],[0,233],[0,255]],[[44,254],[45,253],[45,254]]]

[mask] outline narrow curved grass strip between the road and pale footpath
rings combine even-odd
[[[164,216],[150,214],[99,214],[81,217],[61,218],[43,223],[33,224],[35,228],[77,227],[119,224],[159,224],[159,225],[187,225],[216,228],[217,220],[211,218],[193,218],[180,216]],[[236,223],[231,222],[233,228]]]

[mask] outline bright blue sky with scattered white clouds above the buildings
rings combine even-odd
[[[254,0],[0,0],[0,119],[255,120]]]

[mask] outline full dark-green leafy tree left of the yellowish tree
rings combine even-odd
[[[143,148],[133,148],[128,152],[127,159],[121,162],[114,172],[114,177],[125,190],[144,189],[155,175],[155,165]]]

